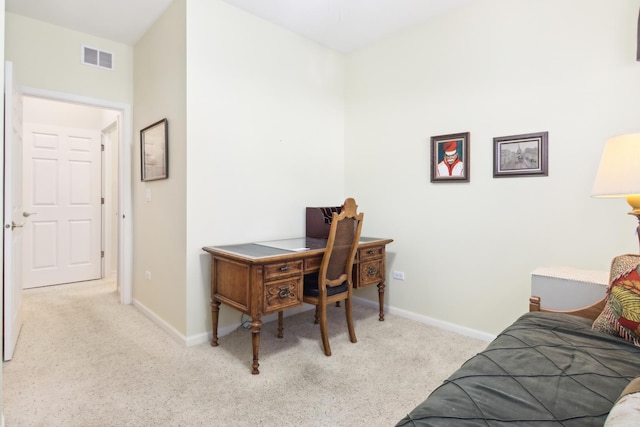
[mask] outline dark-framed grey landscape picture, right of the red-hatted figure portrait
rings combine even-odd
[[[493,177],[549,175],[549,133],[493,138]]]

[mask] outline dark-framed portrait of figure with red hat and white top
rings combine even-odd
[[[431,137],[431,182],[469,182],[469,132]]]

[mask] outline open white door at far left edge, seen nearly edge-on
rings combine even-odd
[[[11,360],[22,326],[22,95],[5,65],[4,131],[4,330],[3,358]]]

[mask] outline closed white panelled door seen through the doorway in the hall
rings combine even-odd
[[[24,288],[102,277],[100,131],[24,124]]]

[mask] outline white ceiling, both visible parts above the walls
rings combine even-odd
[[[223,0],[349,52],[473,0]],[[6,10],[134,45],[172,0],[6,0]]]

